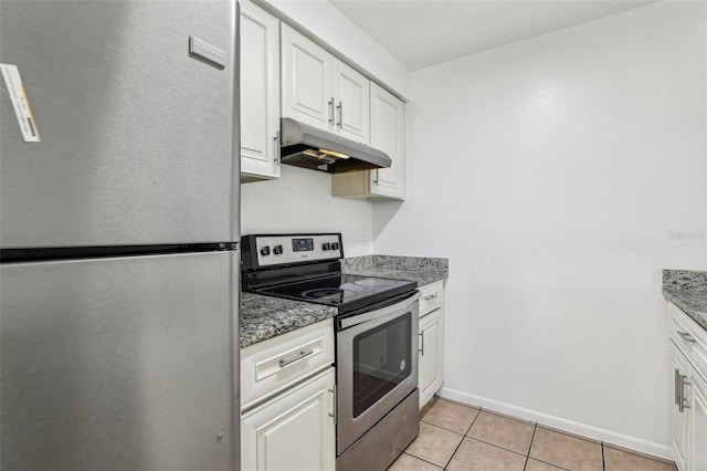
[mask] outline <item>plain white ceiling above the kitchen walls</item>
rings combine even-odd
[[[329,0],[410,71],[655,0]]]

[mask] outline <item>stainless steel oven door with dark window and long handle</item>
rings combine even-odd
[[[337,321],[337,454],[418,387],[419,297]]]

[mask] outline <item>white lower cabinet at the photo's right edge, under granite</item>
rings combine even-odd
[[[671,448],[680,471],[707,470],[707,331],[668,303],[673,404]]]

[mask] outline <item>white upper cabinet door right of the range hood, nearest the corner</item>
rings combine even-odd
[[[371,147],[388,154],[390,168],[372,170],[370,191],[393,199],[405,198],[404,103],[371,83]]]

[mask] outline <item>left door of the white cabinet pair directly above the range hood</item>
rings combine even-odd
[[[284,117],[334,130],[333,63],[334,57],[328,52],[282,24]]]

